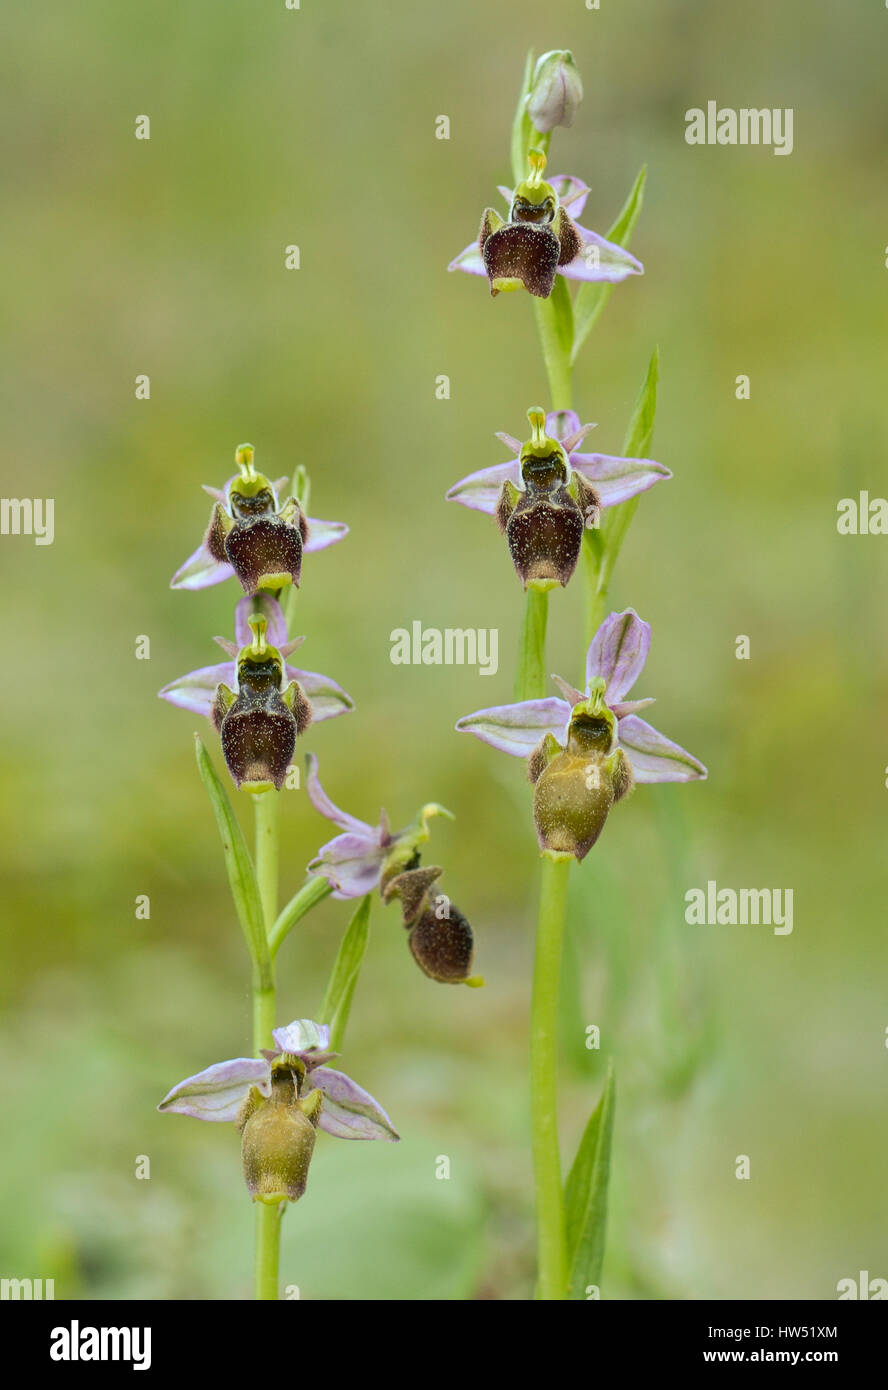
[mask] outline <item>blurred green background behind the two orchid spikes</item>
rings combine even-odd
[[[297,630],[357,712],[306,744],[359,816],[456,812],[432,862],[488,980],[432,984],[374,908],[343,1065],[403,1143],[320,1141],[282,1282],[531,1295],[529,796],[518,762],[452,733],[510,698],[521,596],[492,521],[443,493],[503,459],[493,431],[520,434],[546,388],[527,296],[491,302],[445,267],[509,179],[525,50],[566,46],[586,99],[550,170],[592,186],[584,222],[606,232],[649,164],[646,274],[614,291],[577,407],[618,453],[659,343],[653,455],[675,474],[642,500],[611,598],[653,624],[655,721],[710,769],[641,788],[573,878],[567,1156],[609,1056],[618,1084],[602,1295],[831,1298],[888,1276],[888,539],[835,528],[839,498],[888,493],[888,14],[50,0],[7,24],[1,491],[53,496],[56,541],[0,539],[0,1272],[54,1277],[57,1297],[249,1297],[238,1137],[154,1106],[249,1049],[197,721],[156,691],[231,632],[233,584],[168,580],[206,524],[200,484],[252,439],[271,475],[307,464],[314,514],[352,527],[306,562]],[[709,99],[792,107],[795,152],[689,147],[684,113]],[[389,632],[414,619],[499,628],[498,676],[392,666]],[[574,584],[549,642],[570,680],[581,620]],[[286,792],[285,892],[329,833]],[[792,935],[686,926],[707,878],[792,888]],[[282,951],[282,1022],[317,1006],[346,917],[324,903]]]

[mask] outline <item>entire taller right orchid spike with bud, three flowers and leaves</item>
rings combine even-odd
[[[575,175],[546,174],[552,132],[573,124],[581,99],[582,81],[568,51],[552,50],[539,58],[528,54],[511,125],[513,182],[511,188],[499,189],[507,214],[485,208],[478,240],[450,263],[450,270],[486,277],[493,297],[511,297],[509,292],[521,289],[532,297],[549,386],[548,411],[528,410],[529,441],[498,435],[510,448],[511,460],[470,474],[447,493],[449,500],[495,517],[525,592],[514,681],[517,703],[479,710],[456,727],[525,758],[535,787],[542,876],[529,1093],[538,1294],[543,1300],[584,1297],[578,1290],[598,1282],[613,1116],[610,1077],[606,1098],[589,1122],[566,1184],[557,1126],[557,1024],[570,860],[585,858],[610,808],[631,790],[635,769],[627,749],[634,749],[632,756],[639,762],[638,780],[686,780],[703,774],[702,764],[682,762],[685,755],[677,745],[664,752],[666,744],[656,730],[636,719],[632,723],[635,709],[646,701],[625,708],[617,702],[616,713],[610,710],[603,699],[606,681],[598,670],[610,669],[610,656],[599,660],[602,644],[616,642],[614,649],[621,649],[613,632],[623,634],[630,645],[646,641],[646,626],[634,624],[628,613],[607,623],[603,619],[610,577],[638,498],[671,474],[663,464],[639,457],[653,430],[656,354],[627,436],[630,457],[586,453],[584,439],[593,425],[581,424],[573,410],[573,366],[579,349],[613,286],[643,274],[643,265],[627,245],[642,206],[645,170],[606,238],[579,221],[582,217],[585,222],[588,185]],[[577,288],[574,295],[571,282]],[[602,521],[606,509],[613,510]],[[567,698],[559,701],[546,698],[549,591],[570,581],[581,556],[586,642],[592,642],[586,663],[591,684],[584,696],[560,682]],[[621,680],[618,676],[617,689]],[[624,742],[617,739],[617,727]],[[660,760],[656,766],[652,756]],[[682,769],[681,777],[677,766]]]

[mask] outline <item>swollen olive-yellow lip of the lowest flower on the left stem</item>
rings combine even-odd
[[[243,1176],[257,1202],[297,1201],[306,1190],[322,1097],[297,1097],[296,1074],[281,1068],[271,1097],[253,1091],[242,1126]]]

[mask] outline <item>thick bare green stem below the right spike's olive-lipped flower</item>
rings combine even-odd
[[[557,1031],[568,870],[570,859],[543,856],[531,1002],[531,1145],[536,1188],[538,1290],[539,1297],[549,1301],[561,1300],[567,1294],[564,1193],[559,1155]]]

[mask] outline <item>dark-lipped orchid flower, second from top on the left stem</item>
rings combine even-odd
[[[268,595],[240,599],[235,641],[215,641],[231,659],[181,676],[160,696],[213,721],[238,787],[279,790],[296,737],[313,720],[349,713],[353,702],[328,676],[286,664],[304,638],[288,639],[281,606]]]

